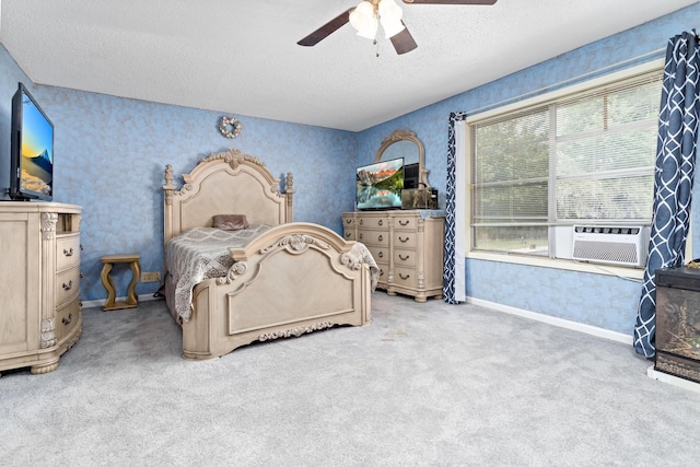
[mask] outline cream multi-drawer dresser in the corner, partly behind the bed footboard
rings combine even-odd
[[[389,295],[401,293],[417,302],[442,297],[445,219],[442,214],[428,217],[432,214],[427,212],[342,213],[345,238],[366,245],[382,270],[377,288]]]

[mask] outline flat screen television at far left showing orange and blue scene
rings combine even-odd
[[[54,124],[20,83],[12,97],[10,198],[54,198]]]

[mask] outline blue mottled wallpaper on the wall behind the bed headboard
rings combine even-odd
[[[18,81],[31,82],[4,48],[0,67],[0,129],[10,135],[12,94]],[[292,172],[294,220],[340,233],[340,213],[353,209],[354,133],[236,115],[242,135],[228,139],[218,130],[222,113],[52,86],[35,85],[31,91],[56,127],[54,199],[84,208],[83,300],[106,297],[100,281],[103,255],[139,253],[142,271],[163,270],[165,164],[179,175],[190,172],[202,156],[237,148],[260,157],[279,178]],[[3,141],[8,154],[9,145]],[[121,292],[130,272],[117,273],[117,268]],[[137,293],[156,289],[158,284],[139,283]]]

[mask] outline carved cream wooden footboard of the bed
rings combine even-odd
[[[225,278],[195,288],[183,357],[210,359],[253,341],[371,322],[371,265],[354,242],[311,223],[278,225],[231,248]]]

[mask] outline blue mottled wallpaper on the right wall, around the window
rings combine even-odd
[[[663,58],[669,37],[700,26],[700,4],[563,54],[457,96],[358,133],[359,160],[372,159],[396,128],[411,129],[425,145],[430,183],[444,192],[447,118],[516,102],[579,81]],[[696,200],[700,186],[696,184]],[[700,210],[692,218],[695,257],[700,256]],[[690,258],[688,258],[690,259]],[[468,259],[468,296],[632,335],[642,285],[612,276]]]

